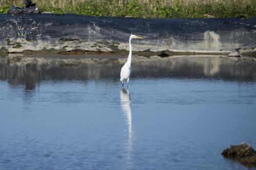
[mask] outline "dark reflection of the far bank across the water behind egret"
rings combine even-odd
[[[52,80],[118,80],[126,58],[44,58],[0,57],[0,79],[11,86],[24,85],[33,90],[41,81]],[[253,58],[225,56],[133,57],[134,78],[221,78],[255,81],[256,62]]]

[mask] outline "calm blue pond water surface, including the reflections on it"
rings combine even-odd
[[[0,58],[0,169],[248,169],[221,152],[256,148],[256,62],[124,62]]]

